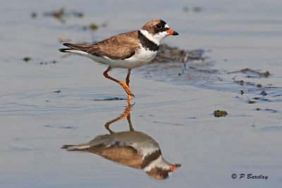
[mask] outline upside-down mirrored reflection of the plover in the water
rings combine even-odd
[[[95,153],[116,163],[143,169],[145,173],[158,180],[168,178],[180,164],[168,163],[161,154],[159,144],[152,137],[133,129],[130,120],[131,108],[132,106],[127,106],[121,116],[105,124],[110,134],[97,136],[86,144],[64,145],[61,148]],[[109,125],[123,118],[127,118],[130,130],[113,132]]]

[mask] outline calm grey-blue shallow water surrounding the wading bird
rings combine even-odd
[[[61,7],[69,13],[66,23],[44,15]],[[1,187],[281,187],[281,7],[277,0],[2,3]],[[164,181],[93,153],[61,149],[108,134],[105,123],[123,114],[127,102],[104,100],[126,96],[103,77],[104,65],[63,57],[58,38],[92,42],[152,18],[180,33],[166,44],[206,51],[205,61],[188,62],[182,75],[183,63],[152,63],[130,77],[134,129],[152,137],[168,162],[182,165]],[[90,23],[107,26],[82,28]],[[31,60],[23,61],[26,56]],[[271,75],[231,73],[244,68]],[[109,74],[123,80],[126,73]],[[215,118],[217,109],[228,115]],[[129,130],[126,118],[110,126]]]

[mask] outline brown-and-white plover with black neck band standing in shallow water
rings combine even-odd
[[[69,44],[62,52],[71,52],[92,58],[93,61],[109,65],[104,77],[121,84],[128,94],[128,101],[134,96],[129,88],[129,77],[132,68],[138,68],[152,61],[157,55],[159,44],[168,35],[178,35],[171,30],[164,20],[151,20],[140,30],[121,33],[92,45]],[[112,68],[127,68],[126,83],[108,75]]]

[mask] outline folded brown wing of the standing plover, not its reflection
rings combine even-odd
[[[93,44],[86,52],[94,56],[125,59],[133,56],[138,48],[140,48],[140,44],[138,42],[138,32],[135,30],[104,39],[97,44]]]

